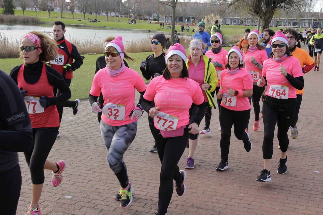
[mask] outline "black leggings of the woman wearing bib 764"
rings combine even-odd
[[[286,111],[274,111],[269,108],[268,104],[263,103],[263,120],[264,120],[264,142],[263,142],[263,158],[271,159],[273,156],[273,141],[274,132],[277,123],[277,138],[280,146],[280,150],[287,151],[288,148],[288,136],[287,132],[293,118],[295,116],[296,98],[290,99],[289,107]]]

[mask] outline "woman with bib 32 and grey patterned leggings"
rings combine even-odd
[[[115,200],[120,201],[121,207],[126,207],[132,202],[133,187],[123,154],[136,136],[137,120],[143,113],[140,102],[134,107],[135,90],[142,97],[146,84],[138,72],[124,65],[126,53],[121,36],[116,36],[106,45],[104,55],[107,66],[94,75],[89,102],[92,112],[103,113],[100,124],[101,136],[108,151],[107,162],[121,185]],[[100,93],[104,101],[102,109],[98,102]]]

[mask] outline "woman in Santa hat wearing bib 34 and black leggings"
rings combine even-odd
[[[245,128],[250,117],[250,103],[247,97],[252,95],[253,84],[250,73],[242,68],[242,53],[235,45],[228,52],[228,63],[221,72],[221,87],[216,95],[222,99],[220,109],[221,124],[221,161],[215,167],[223,171],[228,166],[231,128],[234,125],[234,135],[244,143],[245,151],[252,148],[248,132]]]

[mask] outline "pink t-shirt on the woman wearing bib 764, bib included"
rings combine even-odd
[[[280,64],[294,78],[303,76],[302,67],[297,58],[289,56],[283,62],[276,62],[269,58],[264,62],[262,73],[267,80],[267,91],[265,94],[277,99],[296,98],[296,89],[279,72]]]

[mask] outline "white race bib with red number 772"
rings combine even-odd
[[[173,131],[176,130],[178,117],[159,111],[154,121],[162,131]]]

